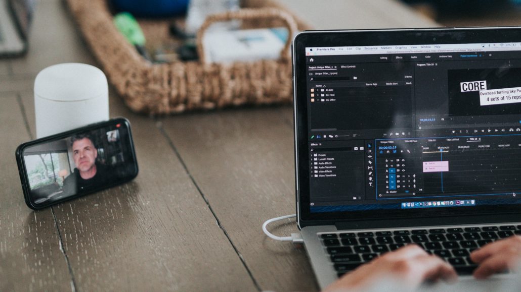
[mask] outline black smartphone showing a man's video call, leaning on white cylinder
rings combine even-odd
[[[126,118],[23,143],[16,149],[16,161],[31,209],[114,187],[139,171]]]

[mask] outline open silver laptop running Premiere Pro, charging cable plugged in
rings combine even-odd
[[[292,54],[320,288],[413,243],[470,280],[473,250],[521,234],[521,28],[308,31]]]

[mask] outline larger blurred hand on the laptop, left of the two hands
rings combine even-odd
[[[367,290],[375,282],[391,279],[405,289],[415,289],[425,280],[455,280],[452,266],[429,255],[417,245],[407,245],[384,254],[326,287],[325,291]],[[395,283],[394,282],[394,283]]]

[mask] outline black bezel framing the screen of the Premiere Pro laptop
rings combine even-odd
[[[381,221],[389,219],[458,218],[485,215],[521,214],[519,204],[485,205],[467,208],[378,209],[345,212],[312,213],[309,196],[308,121],[306,47],[422,45],[422,44],[475,44],[521,42],[521,27],[493,28],[434,28],[395,30],[308,31],[294,38],[294,125],[296,202],[299,226],[332,224],[342,221]],[[521,56],[521,51],[519,52]]]

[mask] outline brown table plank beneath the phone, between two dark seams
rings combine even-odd
[[[31,100],[27,92],[28,116]],[[113,94],[110,115],[129,118],[140,174],[54,207],[77,288],[256,290],[155,121],[130,113]]]

